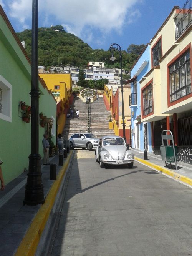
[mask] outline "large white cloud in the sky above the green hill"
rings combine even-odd
[[[22,28],[31,27],[31,0],[0,1],[4,1],[4,4],[8,6],[9,15],[17,20]],[[141,1],[57,0],[53,2],[53,0],[41,0],[39,1],[39,26],[50,27],[63,24],[67,32],[82,39],[89,38],[89,41],[94,38],[93,30],[99,30],[103,35],[109,34],[111,31],[121,34],[124,26],[139,15],[136,4]]]

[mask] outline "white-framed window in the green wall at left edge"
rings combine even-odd
[[[0,75],[0,119],[12,121],[12,85]]]

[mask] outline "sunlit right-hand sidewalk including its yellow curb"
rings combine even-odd
[[[167,167],[165,161],[161,160],[161,156],[154,154],[147,154],[147,160],[144,160],[144,153],[141,150],[137,150],[135,148],[130,148],[130,150],[134,153],[134,158],[136,161],[151,167],[152,169],[161,172],[164,175],[173,178],[180,183],[183,183],[192,188],[192,165],[177,162],[177,169],[175,168],[175,163],[172,163],[171,166],[167,163]]]

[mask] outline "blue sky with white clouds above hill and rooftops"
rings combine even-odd
[[[15,32],[31,29],[32,0],[0,0]],[[38,27],[62,25],[93,49],[147,44],[186,0],[39,0]]]

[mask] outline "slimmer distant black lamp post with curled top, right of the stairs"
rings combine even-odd
[[[121,96],[122,96],[122,129],[123,129],[123,138],[126,142],[125,136],[125,116],[124,116],[124,100],[123,100],[123,85],[122,85],[122,55],[121,55],[121,46],[117,43],[113,43],[110,48],[110,52],[112,52],[112,57],[110,60],[114,61],[116,58],[113,56],[113,52],[118,51],[120,55],[120,68],[121,68]]]

